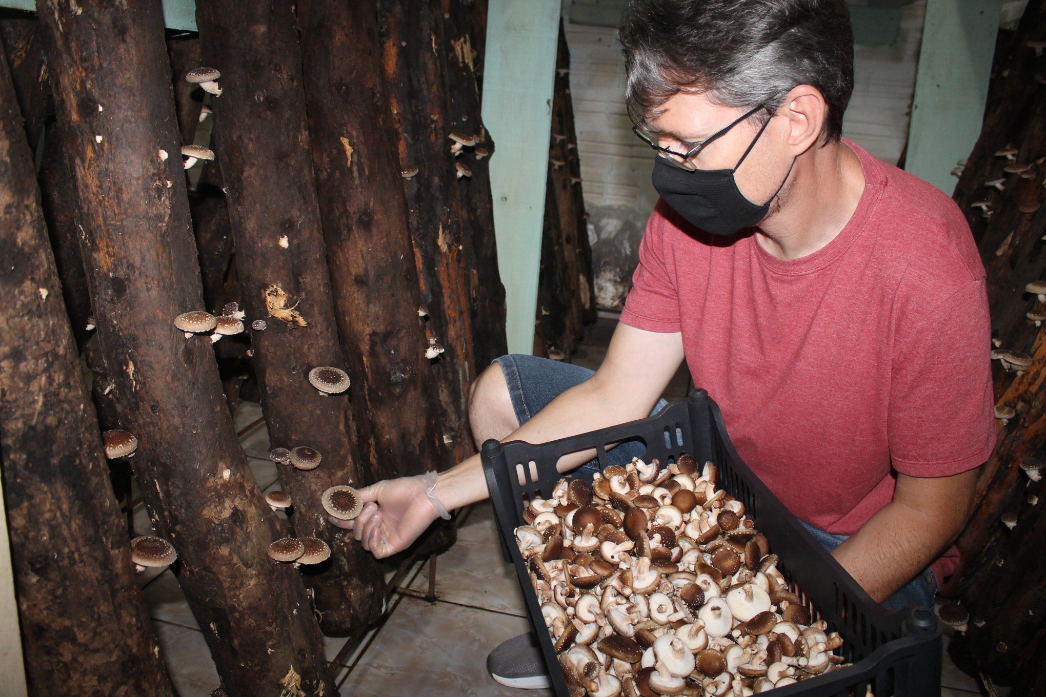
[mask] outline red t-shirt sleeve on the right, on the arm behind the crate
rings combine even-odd
[[[899,472],[949,477],[995,447],[992,321],[984,279],[896,327],[888,417]]]

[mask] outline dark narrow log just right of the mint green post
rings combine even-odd
[[[585,325],[595,321],[595,292],[570,97],[570,51],[562,21],[542,234],[535,354],[569,359],[585,335]]]

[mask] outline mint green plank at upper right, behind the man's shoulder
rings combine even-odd
[[[905,169],[951,195],[970,155],[999,29],[1000,0],[927,0]]]

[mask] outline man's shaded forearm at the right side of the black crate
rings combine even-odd
[[[937,558],[961,530],[963,519],[932,515],[894,501],[832,556],[881,603]]]

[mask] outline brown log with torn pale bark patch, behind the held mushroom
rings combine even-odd
[[[206,65],[225,76],[212,142],[228,195],[245,324],[266,323],[251,331],[251,346],[269,438],[273,446],[309,445],[323,456],[317,469],[279,467],[293,503],[288,520],[295,536],[319,537],[334,550],[329,563],[301,571],[324,632],[346,635],[381,615],[384,581],[373,555],[331,526],[321,503],[328,487],[361,480],[347,393],[327,396],[308,379],[312,368],[343,368],[345,362],[313,179],[294,9],[291,0],[265,6],[199,0],[197,22]],[[279,241],[285,235],[286,248]],[[287,294],[304,326],[270,312],[266,292],[273,286]]]

